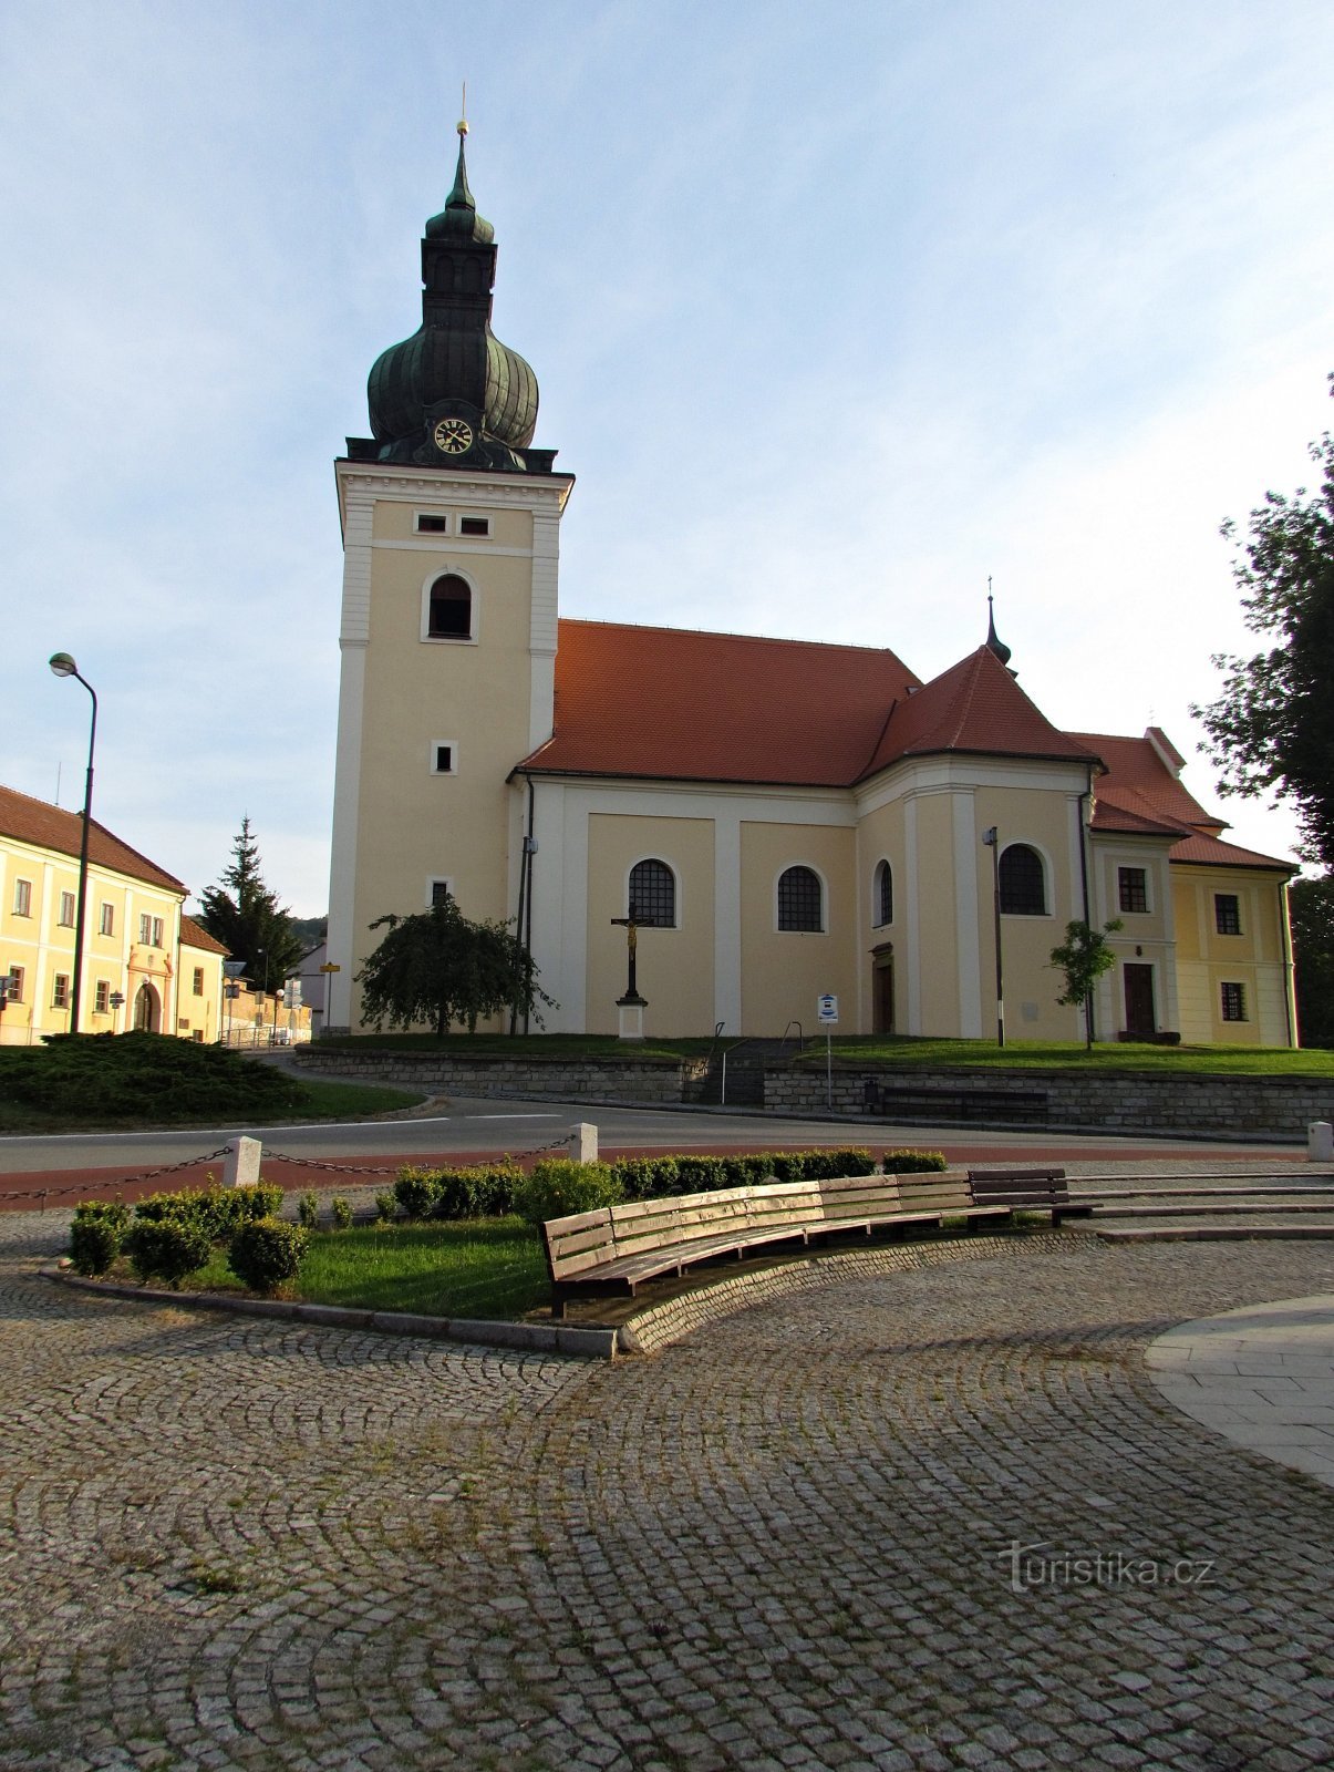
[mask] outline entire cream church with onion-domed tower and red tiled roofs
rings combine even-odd
[[[422,326],[370,370],[344,533],[328,1028],[370,923],[517,927],[547,1031],[1075,1040],[1051,950],[1121,920],[1097,1038],[1295,1044],[1286,861],[1228,843],[1157,727],[1059,732],[994,624],[928,682],[891,650],[570,620],[574,478],[491,331],[466,126]],[[638,996],[627,929],[638,925]]]

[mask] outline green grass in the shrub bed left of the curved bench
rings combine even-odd
[[[117,1262],[115,1279],[135,1278]],[[214,1249],[182,1292],[244,1292]],[[283,1297],[425,1317],[516,1318],[551,1295],[542,1240],[519,1217],[432,1224],[365,1224],[312,1232],[296,1285]]]

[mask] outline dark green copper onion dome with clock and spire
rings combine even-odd
[[[524,450],[537,429],[537,376],[491,331],[494,229],[468,186],[464,136],[445,207],[422,239],[422,326],[390,346],[367,386],[379,461],[549,471],[551,452]]]

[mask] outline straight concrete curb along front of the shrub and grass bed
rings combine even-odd
[[[163,1286],[128,1286],[117,1279],[89,1279],[60,1267],[43,1276],[62,1286],[97,1292],[138,1304],[172,1304],[177,1310],[230,1311],[237,1317],[276,1317],[321,1329],[360,1329],[372,1334],[411,1334],[432,1341],[468,1341],[475,1347],[517,1348],[524,1354],[569,1354],[578,1359],[615,1359],[615,1329],[574,1329],[553,1324],[485,1322],[471,1317],[418,1317],[411,1311],[361,1311],[340,1304],[301,1304],[291,1299],[243,1299],[223,1292],[168,1292]]]

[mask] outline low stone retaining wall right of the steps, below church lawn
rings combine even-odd
[[[1003,1092],[1043,1093],[1047,1125],[1090,1132],[1182,1132],[1206,1138],[1306,1139],[1311,1120],[1334,1118],[1334,1079],[1237,1077],[1114,1070],[834,1070],[836,1115],[861,1115],[868,1081],[893,1090],[941,1090],[942,1095]],[[764,1102],[771,1113],[826,1113],[824,1072],[767,1069]],[[942,1123],[960,1123],[958,1111],[942,1106]],[[925,1120],[923,1120],[925,1123]],[[985,1122],[1004,1125],[1003,1109],[989,1108]],[[1015,1115],[1015,1125],[1035,1123]]]

